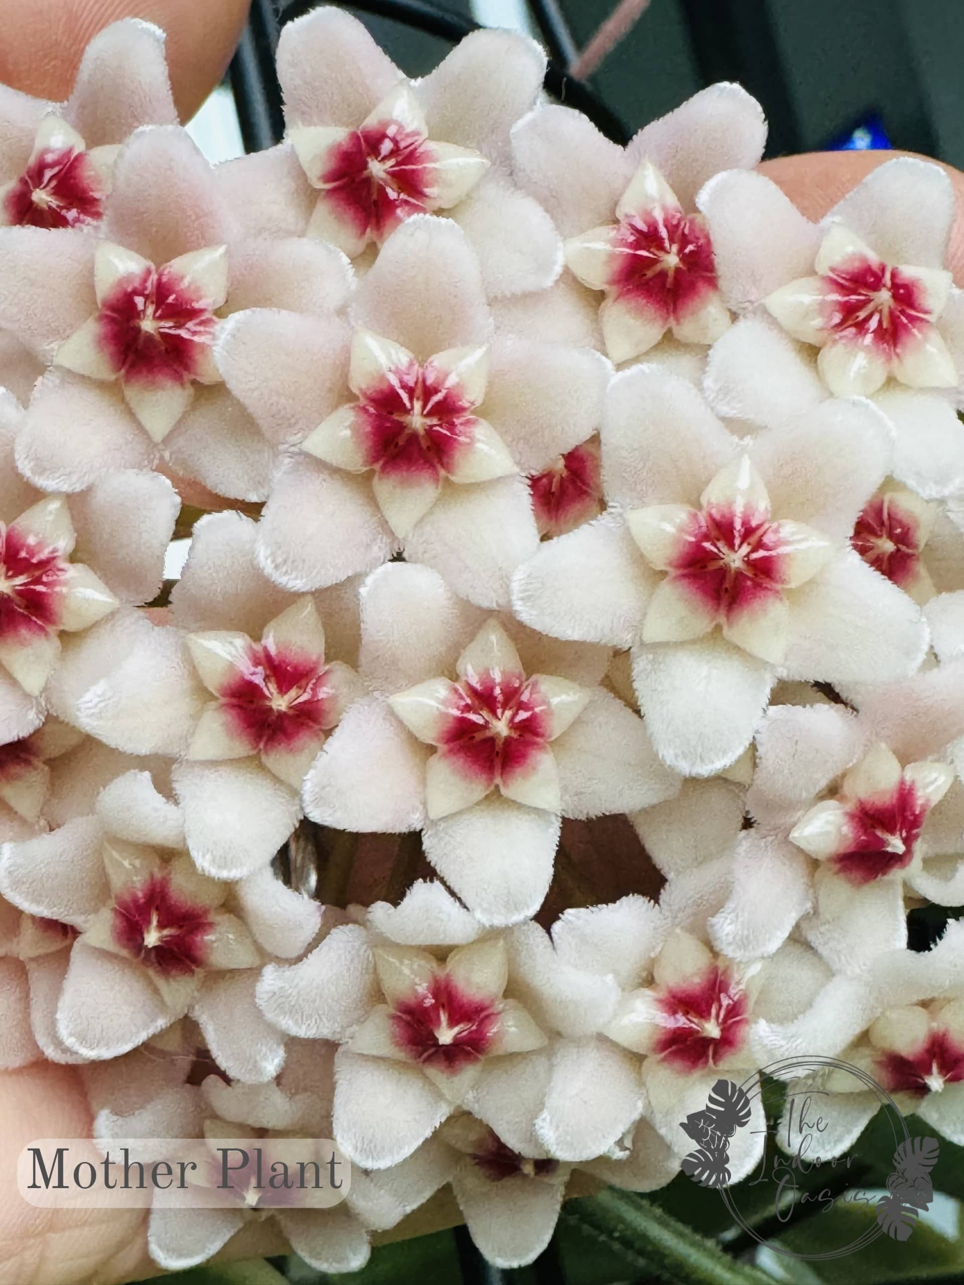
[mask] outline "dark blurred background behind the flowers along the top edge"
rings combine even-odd
[[[432,8],[526,31],[566,68],[617,4],[445,0]],[[253,0],[248,40],[254,32],[270,44],[289,9],[285,0]],[[411,76],[450,48],[410,21],[352,12]],[[763,104],[767,155],[889,145],[964,167],[961,0],[635,0],[625,12],[638,13],[635,22],[587,81],[627,134],[704,85],[735,80]],[[212,159],[242,150],[226,87],[198,113],[193,132]]]

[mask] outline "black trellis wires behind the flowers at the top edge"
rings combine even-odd
[[[252,0],[248,26],[230,72],[247,152],[270,148],[284,134],[281,89],[274,62],[278,37],[285,23],[310,13],[319,3],[321,0],[288,0],[287,4],[284,0]],[[576,80],[566,69],[576,46],[558,0],[530,0],[530,5],[550,54],[546,91],[567,107],[584,112],[614,143],[627,143],[630,134],[620,117],[585,81]],[[352,0],[351,8],[377,18],[391,18],[452,44],[479,30],[479,23],[472,18],[442,9],[429,0]]]

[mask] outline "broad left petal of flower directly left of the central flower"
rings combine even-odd
[[[129,754],[179,754],[204,693],[179,630],[112,613],[64,649],[48,694],[66,722]]]

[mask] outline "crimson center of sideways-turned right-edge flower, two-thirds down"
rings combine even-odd
[[[901,779],[884,799],[857,799],[847,812],[847,847],[833,858],[852,884],[871,883],[914,860],[929,806]]]

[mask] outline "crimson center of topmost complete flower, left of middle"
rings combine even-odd
[[[382,121],[353,130],[332,150],[320,186],[360,236],[380,240],[427,209],[434,153],[415,130]]]

